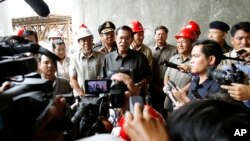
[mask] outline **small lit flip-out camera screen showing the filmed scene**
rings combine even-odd
[[[100,94],[110,92],[111,80],[85,80],[86,94]]]

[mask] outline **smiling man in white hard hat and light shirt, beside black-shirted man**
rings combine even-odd
[[[87,27],[80,27],[76,36],[81,49],[71,57],[69,75],[75,96],[83,97],[84,81],[98,78],[105,54],[93,50],[93,35]]]

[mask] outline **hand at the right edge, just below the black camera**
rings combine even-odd
[[[221,85],[226,89],[230,96],[238,101],[250,100],[250,86],[238,83],[232,83],[231,86]]]

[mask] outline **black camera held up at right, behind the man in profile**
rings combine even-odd
[[[210,68],[207,73],[208,78],[216,80],[219,84],[230,85],[231,83],[243,83],[244,72],[238,70],[237,67],[232,64],[231,69],[228,70],[216,70]]]

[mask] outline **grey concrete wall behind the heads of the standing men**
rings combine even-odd
[[[116,26],[139,20],[147,29],[147,44],[154,41],[158,25],[169,28],[168,42],[176,44],[174,35],[191,19],[200,24],[201,38],[206,38],[211,21],[221,20],[230,26],[250,21],[250,0],[84,0],[84,5],[85,22],[95,35],[98,25],[106,20]]]

